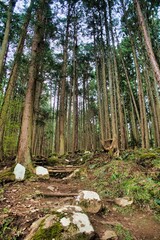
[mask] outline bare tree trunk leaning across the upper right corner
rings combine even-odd
[[[147,50],[148,57],[150,59],[150,63],[151,63],[152,69],[153,69],[153,73],[154,73],[154,76],[157,80],[157,83],[160,85],[160,68],[158,66],[157,60],[156,60],[154,52],[153,52],[152,43],[151,43],[149,33],[147,31],[147,26],[146,26],[146,23],[145,23],[145,19],[144,19],[139,1],[134,0],[134,3],[135,3],[135,6],[136,6],[137,15],[138,15],[138,19],[139,19],[139,24],[141,26],[141,31],[142,31],[142,34],[143,34],[143,37],[144,37],[145,47],[146,47],[146,50]]]

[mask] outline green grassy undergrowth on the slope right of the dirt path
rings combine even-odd
[[[100,161],[101,163],[101,161]],[[160,206],[160,150],[124,152],[118,160],[89,166],[95,190],[108,198],[133,197],[134,204]]]

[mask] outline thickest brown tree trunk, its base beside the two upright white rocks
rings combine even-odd
[[[36,79],[38,76],[39,59],[42,58],[41,45],[44,37],[44,13],[48,4],[45,0],[39,0],[37,9],[37,22],[32,41],[32,56],[29,69],[29,82],[24,103],[21,132],[18,143],[16,161],[32,170],[31,146],[32,146],[32,123],[33,103],[35,94]],[[46,6],[47,5],[47,6]]]

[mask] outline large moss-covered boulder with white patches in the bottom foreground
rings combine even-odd
[[[64,206],[31,225],[25,240],[99,239],[88,216],[78,206]]]

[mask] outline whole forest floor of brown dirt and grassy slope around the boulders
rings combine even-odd
[[[145,154],[148,153],[143,156]],[[24,239],[35,220],[54,209],[74,204],[74,194],[79,190],[96,191],[102,198],[102,211],[88,214],[100,239],[106,230],[113,230],[119,240],[159,240],[159,152],[156,157],[149,154],[133,157],[133,153],[128,152],[123,158],[111,160],[106,153],[100,153],[85,159],[80,166],[80,174],[74,178],[31,178],[4,183],[0,188],[0,240]],[[134,164],[133,158],[136,159]],[[132,195],[133,204],[117,206],[114,198],[124,194]]]

